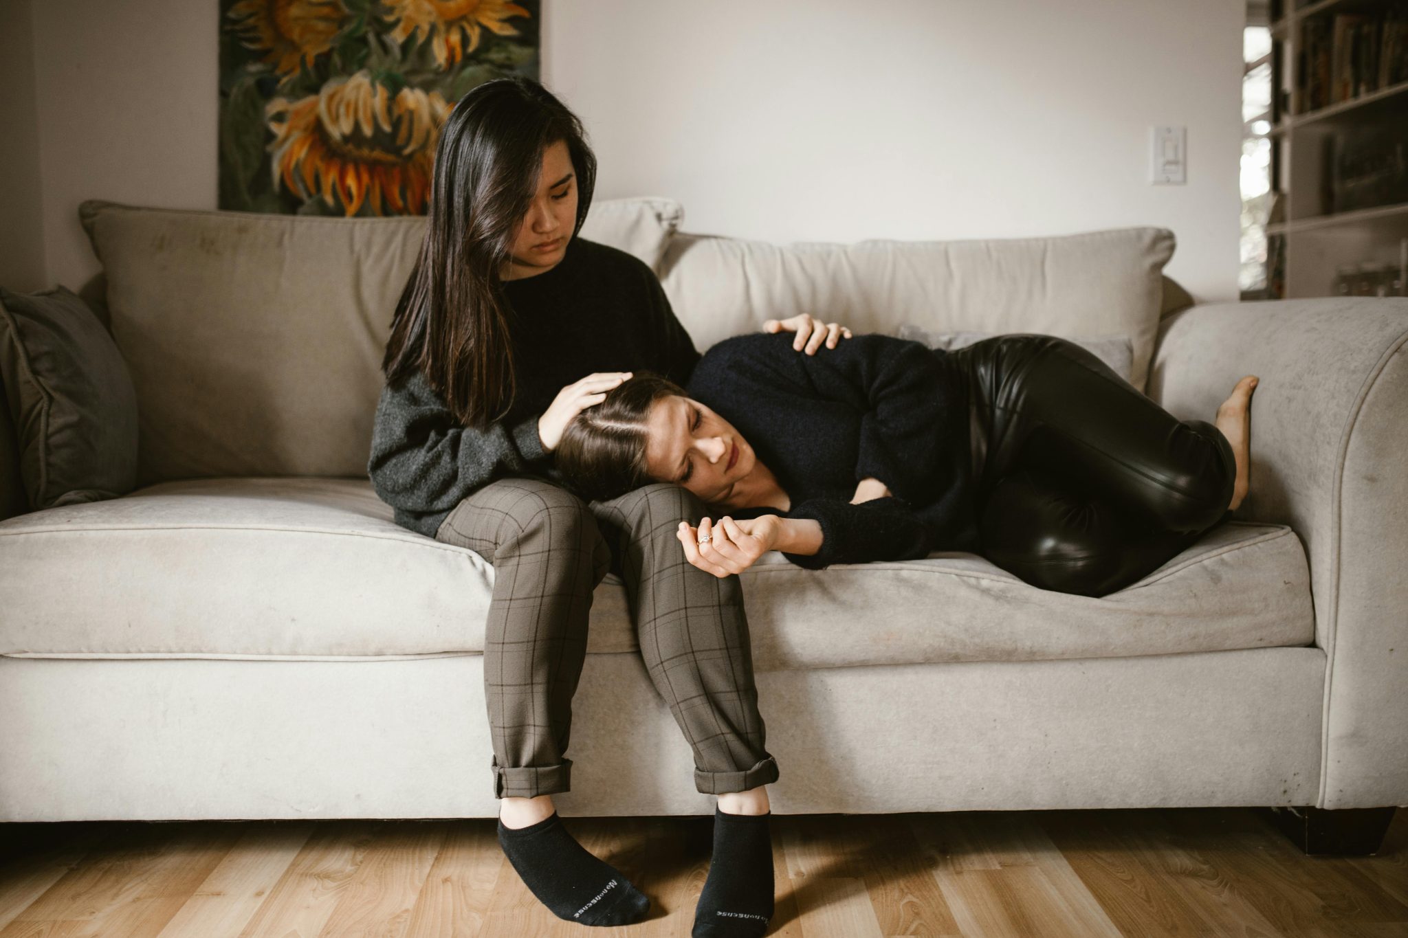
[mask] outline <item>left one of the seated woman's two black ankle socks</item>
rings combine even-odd
[[[524,885],[558,918],[580,925],[629,925],[650,910],[650,900],[611,863],[587,852],[556,811],[518,830],[498,821],[498,845]]]

